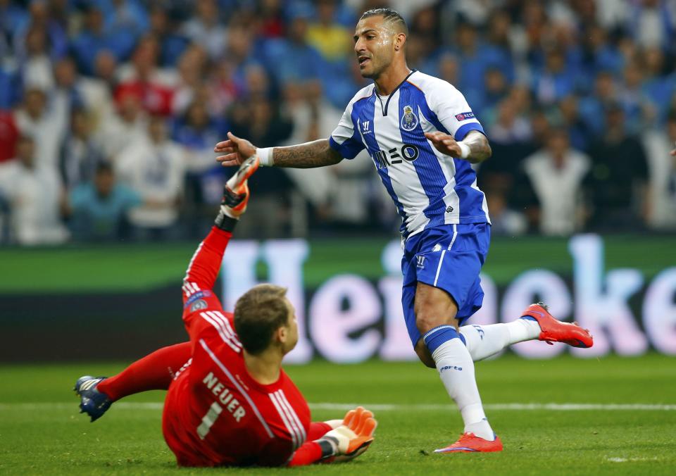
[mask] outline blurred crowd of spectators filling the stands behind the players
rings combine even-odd
[[[0,243],[201,235],[214,144],[328,137],[377,6],[484,125],[494,233],[676,230],[674,0],[0,0]],[[398,227],[365,153],[251,187],[245,237]]]

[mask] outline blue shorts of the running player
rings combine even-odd
[[[415,347],[422,337],[415,326],[415,287],[418,282],[444,289],[458,305],[463,325],[481,308],[484,292],[479,273],[486,261],[491,225],[468,223],[430,228],[406,239],[401,258],[401,303],[408,336]]]

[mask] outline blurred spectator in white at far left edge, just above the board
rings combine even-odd
[[[10,235],[19,244],[60,244],[68,238],[61,223],[61,184],[56,169],[40,166],[39,149],[23,135],[17,158],[0,165],[0,195],[10,208]]]

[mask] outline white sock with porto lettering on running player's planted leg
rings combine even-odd
[[[486,419],[474,377],[474,362],[465,344],[460,339],[450,339],[437,347],[432,358],[446,392],[460,408],[465,432],[493,441],[494,432]]]

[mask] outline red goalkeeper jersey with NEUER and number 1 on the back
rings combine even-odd
[[[284,465],[306,441],[310,410],[284,370],[269,385],[246,370],[232,314],[211,291],[230,236],[214,228],[190,261],[183,320],[192,358],[170,384],[163,433],[180,465]]]

